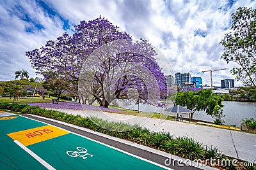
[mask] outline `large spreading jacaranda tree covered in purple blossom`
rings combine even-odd
[[[131,89],[137,90],[138,101],[146,103],[150,90],[154,91],[150,94],[158,91],[157,100],[166,96],[165,79],[154,59],[157,53],[147,41],[133,42],[127,32],[119,31],[103,17],[81,21],[75,29],[72,36],[65,32],[55,41],[47,41],[41,48],[26,52],[38,73],[58,73],[67,82],[66,90],[70,94],[83,103],[92,104],[97,100],[105,107],[113,99],[129,98]],[[120,43],[116,43],[118,41]],[[102,51],[104,48],[108,50]],[[138,73],[143,74],[138,76]],[[154,78],[154,83],[148,83],[148,78]]]

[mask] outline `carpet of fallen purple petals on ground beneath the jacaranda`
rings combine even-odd
[[[71,102],[59,102],[59,104],[52,103],[33,103],[31,106],[38,106],[40,108],[52,108],[52,109],[72,109],[72,110],[95,110],[95,111],[106,111],[113,113],[124,113],[124,111],[115,110],[112,108],[105,108],[103,106],[93,106],[89,104],[71,103]]]

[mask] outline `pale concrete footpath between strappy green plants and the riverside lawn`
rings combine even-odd
[[[56,109],[54,109],[56,110]],[[217,146],[222,154],[253,162],[256,160],[256,134],[231,131],[184,122],[159,120],[156,118],[136,117],[103,111],[58,109],[82,117],[98,117],[108,121],[140,124],[154,132],[170,132],[175,137],[189,136],[204,146]]]

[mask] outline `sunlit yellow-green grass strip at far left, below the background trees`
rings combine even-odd
[[[31,98],[32,97],[20,97],[18,99],[18,101],[15,101],[14,103],[20,103],[20,104],[29,104],[30,101],[31,101]],[[33,98],[33,103],[45,103],[45,102],[51,102],[52,99],[56,99],[56,97],[51,97],[51,98],[48,98],[48,97],[45,97],[45,99],[43,99],[42,97],[40,96],[35,96]],[[8,102],[8,103],[13,103],[13,98],[10,98],[10,97],[0,97],[0,102]]]

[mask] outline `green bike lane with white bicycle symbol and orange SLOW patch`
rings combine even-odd
[[[0,113],[0,129],[1,169],[168,169],[12,113]]]

